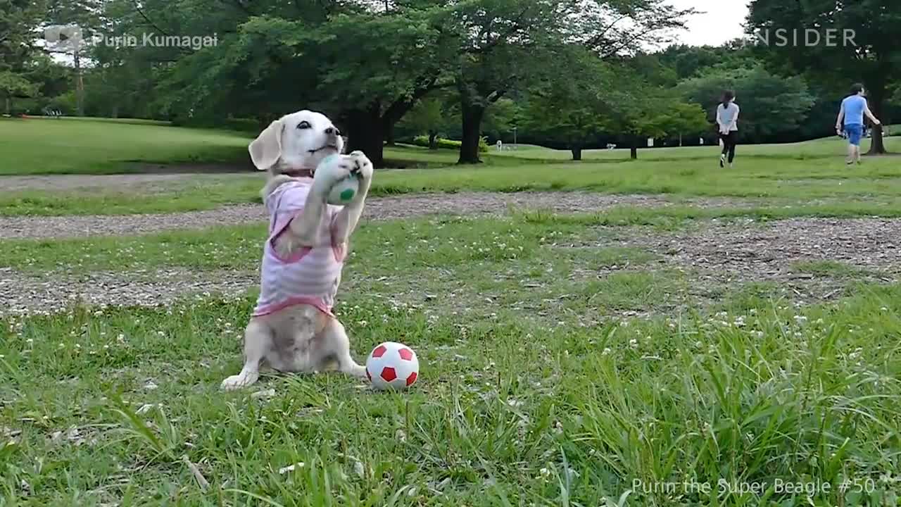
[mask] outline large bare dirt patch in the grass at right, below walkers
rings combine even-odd
[[[899,219],[714,220],[693,231],[635,235],[623,245],[657,253],[664,266],[691,273],[697,295],[769,281],[806,303],[838,297],[852,280],[896,281],[898,237]],[[815,269],[799,263],[814,263]]]

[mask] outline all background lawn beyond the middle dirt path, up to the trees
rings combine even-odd
[[[0,147],[14,156],[0,161],[2,174],[96,173],[136,170],[129,161],[217,164],[246,159],[244,134],[158,124],[85,119],[0,121]],[[901,148],[901,138],[887,139]],[[733,170],[720,170],[717,148],[587,152],[570,162],[569,152],[523,145],[523,150],[488,153],[478,167],[457,167],[457,153],[412,147],[386,149],[395,165],[428,171],[380,171],[372,194],[459,192],[467,190],[589,190],[611,194],[670,194],[784,200],[878,200],[894,206],[901,198],[901,165],[894,157],[865,160],[860,167],[842,162],[844,143],[742,146]],[[47,153],[53,152],[53,157]],[[246,162],[246,161],[245,161]],[[244,163],[244,162],[241,162]],[[3,165],[6,164],[6,165]],[[132,189],[25,190],[0,192],[0,215],[118,215],[211,209],[259,202],[262,177],[246,174],[197,175],[153,191]],[[64,198],[60,198],[64,194]]]

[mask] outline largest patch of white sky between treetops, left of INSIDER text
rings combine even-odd
[[[689,45],[719,46],[742,36],[742,23],[748,15],[749,0],[669,0],[680,9],[694,7],[702,14],[688,19],[688,30],[679,39]]]

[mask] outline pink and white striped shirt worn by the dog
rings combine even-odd
[[[326,205],[313,248],[303,247],[290,258],[280,258],[274,242],[291,220],[304,210],[313,180],[283,183],[265,198],[269,235],[260,266],[260,291],[253,316],[268,315],[296,304],[313,305],[332,316],[334,297],[344,265],[343,246],[332,244],[332,218],[341,207]]]

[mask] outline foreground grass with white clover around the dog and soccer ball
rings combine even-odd
[[[806,263],[841,276],[848,296],[796,309],[776,286],[731,284],[686,306],[690,271],[655,268],[656,254],[597,224],[529,214],[361,229],[337,311],[360,360],[385,340],[414,347],[421,381],[404,394],[337,374],[218,392],[240,369],[252,289],[2,318],[0,498],[800,506],[811,503],[785,483],[828,483],[814,505],[896,502],[901,288]],[[213,275],[253,270],[263,233],[0,242],[0,258],[36,272]],[[643,317],[610,317],[625,310]],[[661,489],[689,480],[712,493]],[[735,489],[750,484],[766,491]]]

